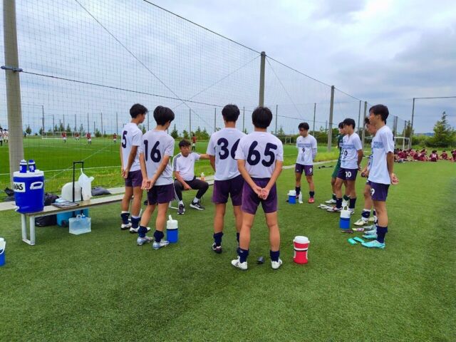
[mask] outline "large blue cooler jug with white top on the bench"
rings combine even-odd
[[[44,208],[44,172],[19,172],[13,174],[14,199],[17,212],[41,212]]]

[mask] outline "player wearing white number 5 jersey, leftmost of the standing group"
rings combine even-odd
[[[120,165],[122,165],[122,177],[125,180],[125,194],[123,195],[120,207],[122,212],[120,218],[122,224],[120,229],[130,228],[130,233],[137,233],[140,223],[140,209],[142,200],[142,175],[139,159],[139,147],[141,145],[142,132],[138,125],[144,122],[147,115],[147,108],[136,103],[130,108],[131,121],[123,127],[122,143],[120,144]],[[133,197],[131,207],[131,223],[128,220],[130,212],[130,201]]]

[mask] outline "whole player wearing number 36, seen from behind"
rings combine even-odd
[[[212,192],[212,202],[215,204],[212,250],[218,254],[222,253],[224,216],[228,197],[231,197],[233,204],[236,239],[239,244],[239,232],[242,225],[242,187],[244,187],[244,178],[242,178],[237,168],[237,161],[234,159],[239,140],[245,136],[244,133],[236,129],[239,108],[237,105],[225,105],[222,109],[222,116],[225,127],[213,133],[207,145],[207,154],[215,171],[214,191]]]

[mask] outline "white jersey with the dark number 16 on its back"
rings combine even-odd
[[[149,130],[142,135],[140,153],[144,154],[145,167],[147,169],[147,178],[152,178],[162,163],[163,157],[174,155],[174,138],[164,130]],[[155,185],[172,184],[172,167],[171,160],[163,170],[162,175],[158,177]]]

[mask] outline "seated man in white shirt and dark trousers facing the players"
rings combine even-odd
[[[201,198],[209,189],[209,184],[195,177],[195,162],[199,159],[209,159],[209,155],[199,155],[196,152],[190,152],[190,141],[185,139],[179,142],[179,148],[180,153],[172,159],[172,169],[175,177],[174,190],[179,199],[177,214],[182,215],[185,212],[182,190],[198,190],[197,195],[190,203],[190,207],[204,210]]]

